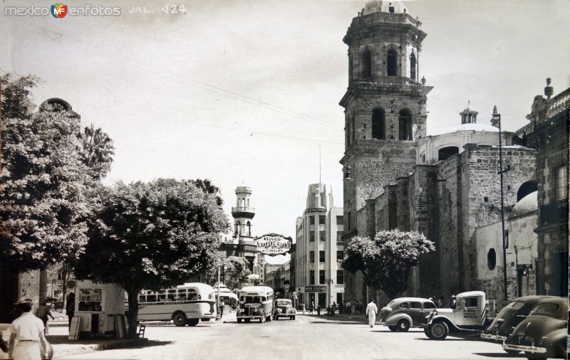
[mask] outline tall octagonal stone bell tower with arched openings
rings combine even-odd
[[[343,38],[348,45],[348,89],[340,102],[346,135],[343,239],[366,235],[356,226],[357,211],[415,166],[432,89],[425,78],[418,81],[426,36],[420,26],[399,1],[369,1]]]

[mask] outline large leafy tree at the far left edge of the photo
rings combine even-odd
[[[87,242],[88,168],[78,152],[78,120],[65,112],[32,113],[28,95],[36,78],[7,79],[0,262],[16,271],[44,269],[75,257]]]

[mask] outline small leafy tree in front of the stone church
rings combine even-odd
[[[355,236],[344,250],[343,268],[362,271],[366,284],[385,292],[390,299],[408,288],[410,271],[420,255],[435,250],[433,242],[416,231],[383,230],[374,240]]]

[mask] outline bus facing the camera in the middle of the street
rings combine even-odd
[[[273,289],[268,286],[245,286],[237,293],[239,308],[237,309],[237,322],[240,324],[259,319],[259,322],[271,321],[273,316],[274,298]]]

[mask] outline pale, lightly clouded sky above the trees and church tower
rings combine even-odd
[[[319,180],[342,206],[342,39],[366,1],[181,0],[169,4],[185,14],[166,14],[162,2],[105,0],[90,5],[120,16],[5,12],[52,4],[2,1],[0,73],[37,75],[37,105],[60,97],[83,125],[109,134],[115,159],[105,184],[211,179],[230,223],[236,186],[249,186],[254,235],[294,238]],[[514,131],[546,78],[555,95],[569,88],[570,1],[404,4],[427,33],[427,134],[459,123],[468,101],[480,123],[497,105],[503,129]]]

